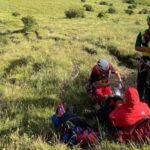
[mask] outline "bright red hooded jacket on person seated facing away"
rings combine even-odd
[[[129,88],[125,93],[125,98],[126,103],[109,115],[115,126],[128,127],[144,118],[150,118],[150,108],[146,103],[140,102],[135,88]]]

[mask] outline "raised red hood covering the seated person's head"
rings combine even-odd
[[[129,107],[133,107],[140,102],[139,93],[136,88],[129,88],[125,93],[125,98],[126,104]]]

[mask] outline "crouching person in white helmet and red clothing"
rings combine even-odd
[[[115,81],[110,81],[111,74],[116,76]],[[88,91],[92,93],[96,103],[100,103],[106,96],[113,96],[111,86],[118,86],[121,83],[121,76],[113,66],[106,60],[100,59],[92,68],[89,78]]]

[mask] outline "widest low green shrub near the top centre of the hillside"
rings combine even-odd
[[[67,18],[84,18],[84,11],[79,8],[70,8],[69,10],[65,11],[65,15]]]

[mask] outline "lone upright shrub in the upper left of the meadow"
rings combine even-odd
[[[37,31],[39,26],[32,16],[23,17],[22,22],[24,24],[24,32],[31,32],[31,31]]]

